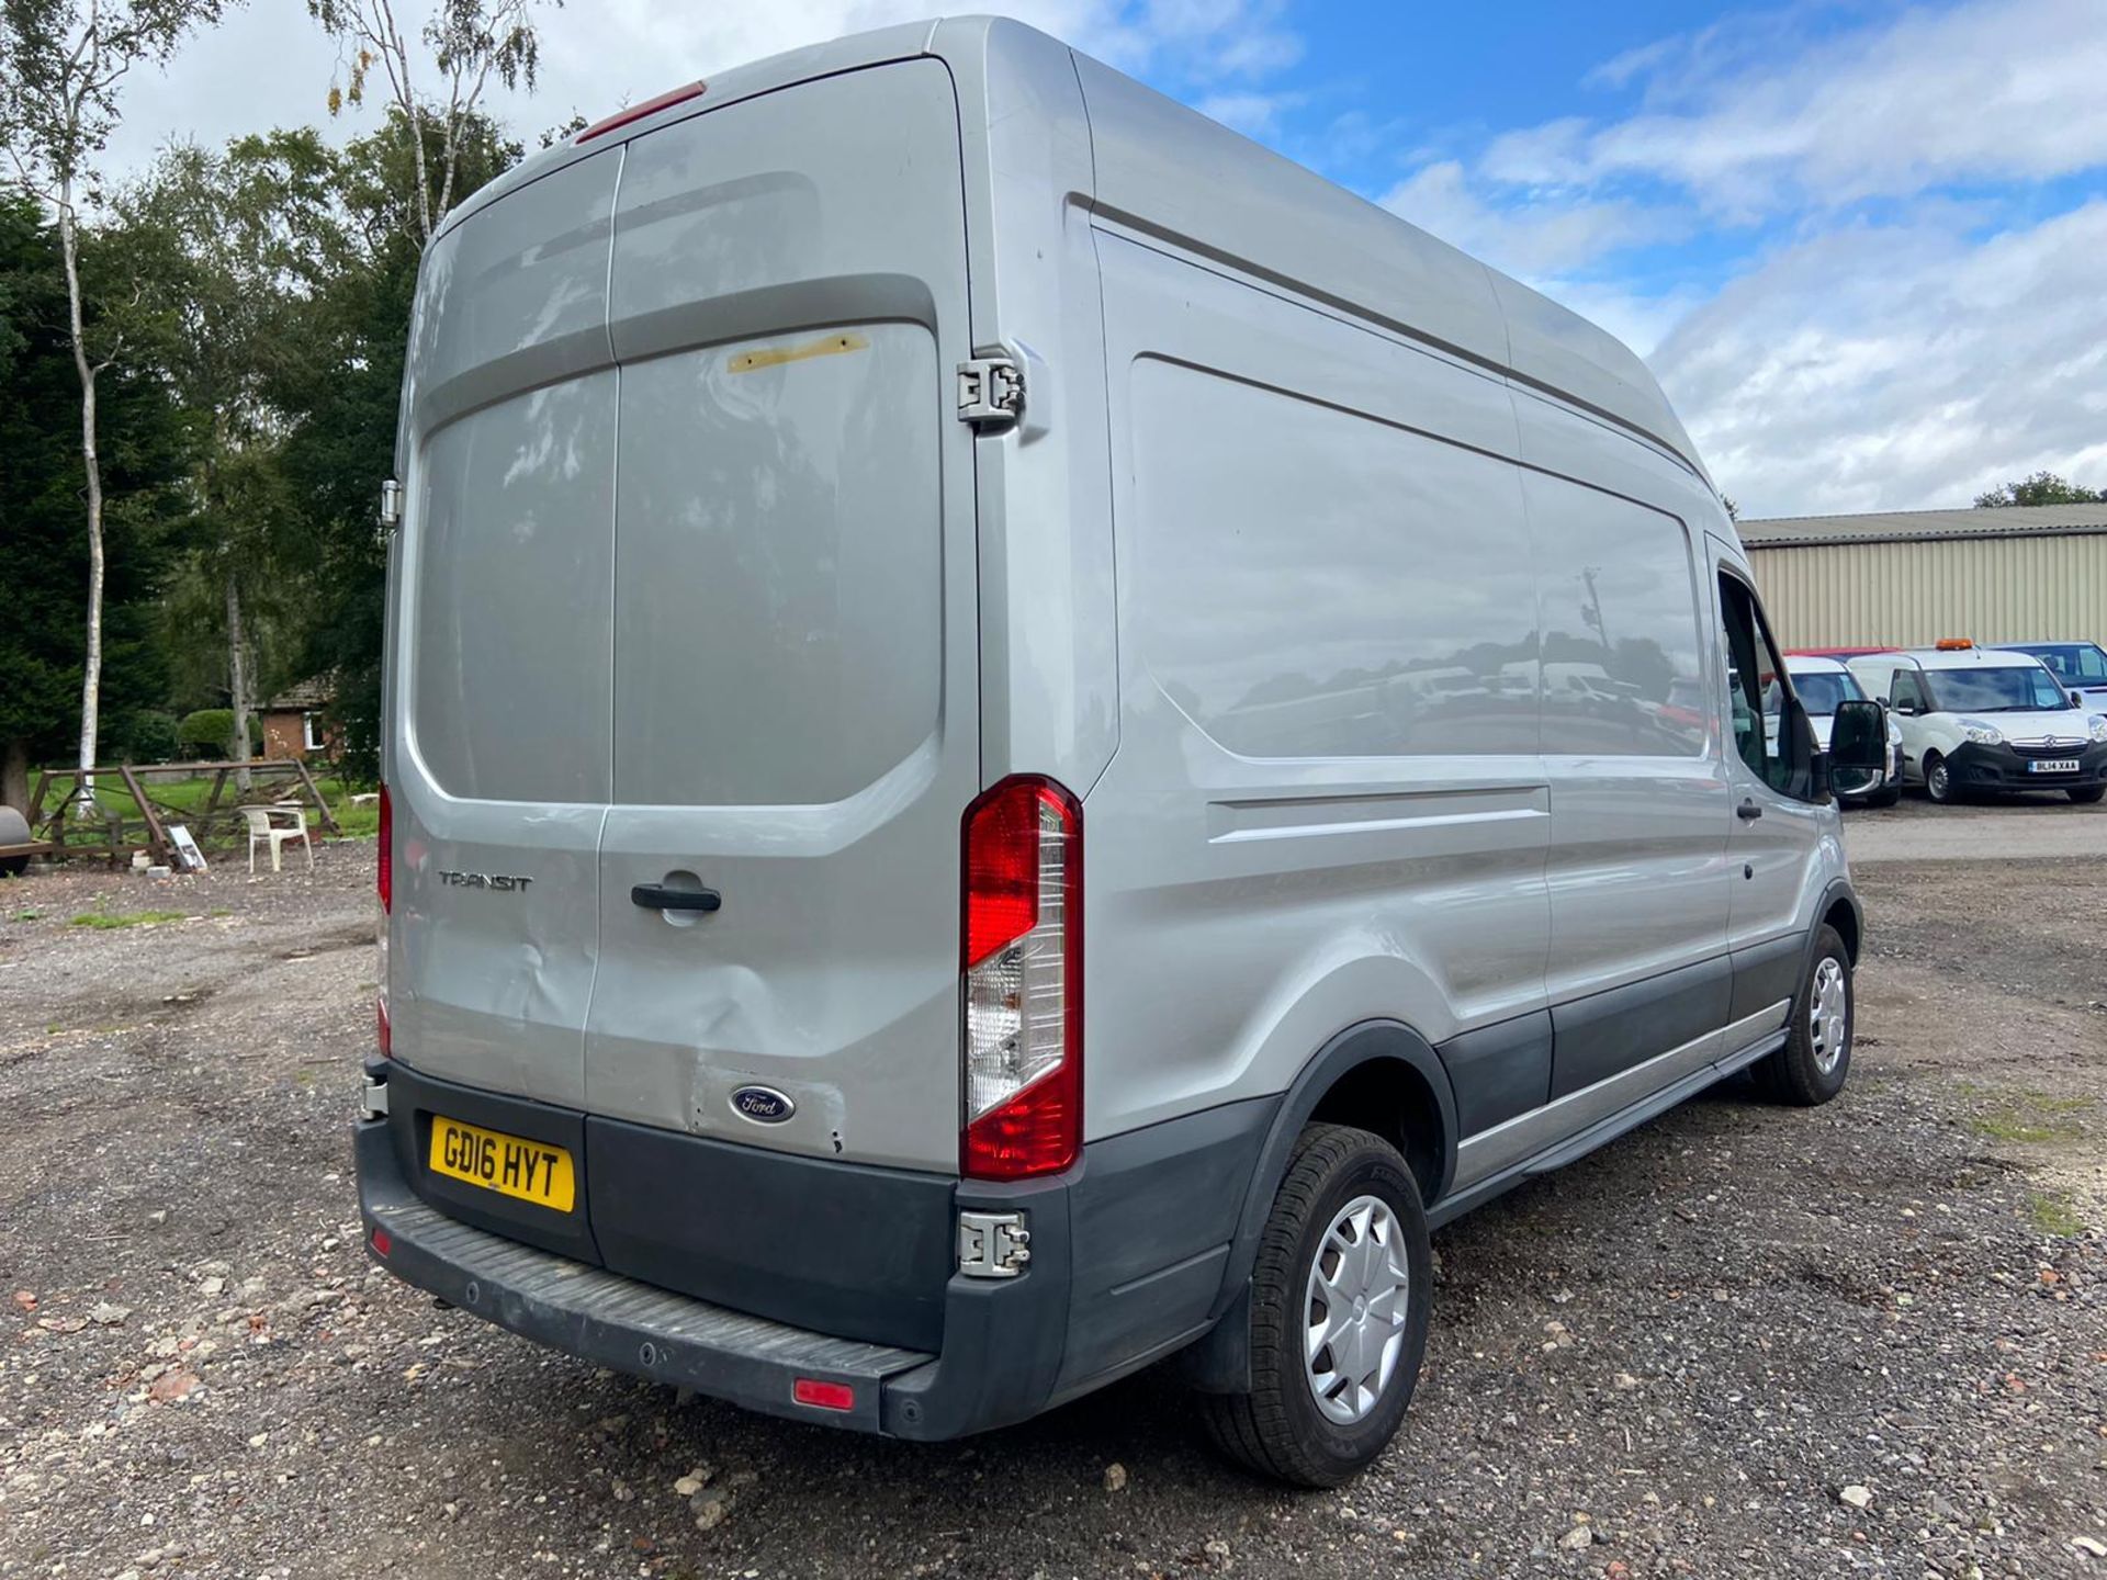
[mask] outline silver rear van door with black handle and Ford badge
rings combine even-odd
[[[628,145],[596,1117],[957,1169],[965,287],[938,61]]]

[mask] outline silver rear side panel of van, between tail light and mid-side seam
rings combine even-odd
[[[1098,253],[1123,683],[1085,805],[1094,1140],[1285,1091],[1363,1020],[1538,1011],[1549,937],[1504,386],[1108,228]]]

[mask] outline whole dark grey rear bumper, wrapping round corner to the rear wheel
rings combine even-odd
[[[1094,1142],[1049,1180],[952,1182],[961,1211],[1024,1213],[1030,1266],[976,1279],[952,1262],[936,1289],[936,1348],[731,1310],[531,1245],[510,1224],[464,1222],[451,1201],[413,1188],[388,1119],[358,1123],[358,1205],[381,1266],[514,1334],[771,1416],[936,1441],[1028,1420],[1205,1334],[1275,1106],[1228,1104]],[[579,1249],[592,1258],[590,1245]],[[799,1403],[801,1378],[847,1384],[851,1407]]]

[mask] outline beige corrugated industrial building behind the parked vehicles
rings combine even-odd
[[[1740,522],[1783,647],[2107,643],[2107,503]]]

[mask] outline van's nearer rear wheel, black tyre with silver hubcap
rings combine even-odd
[[[1304,1129],[1252,1266],[1252,1390],[1201,1395],[1216,1447],[1298,1487],[1365,1468],[1412,1403],[1431,1300],[1412,1169],[1367,1131]]]

